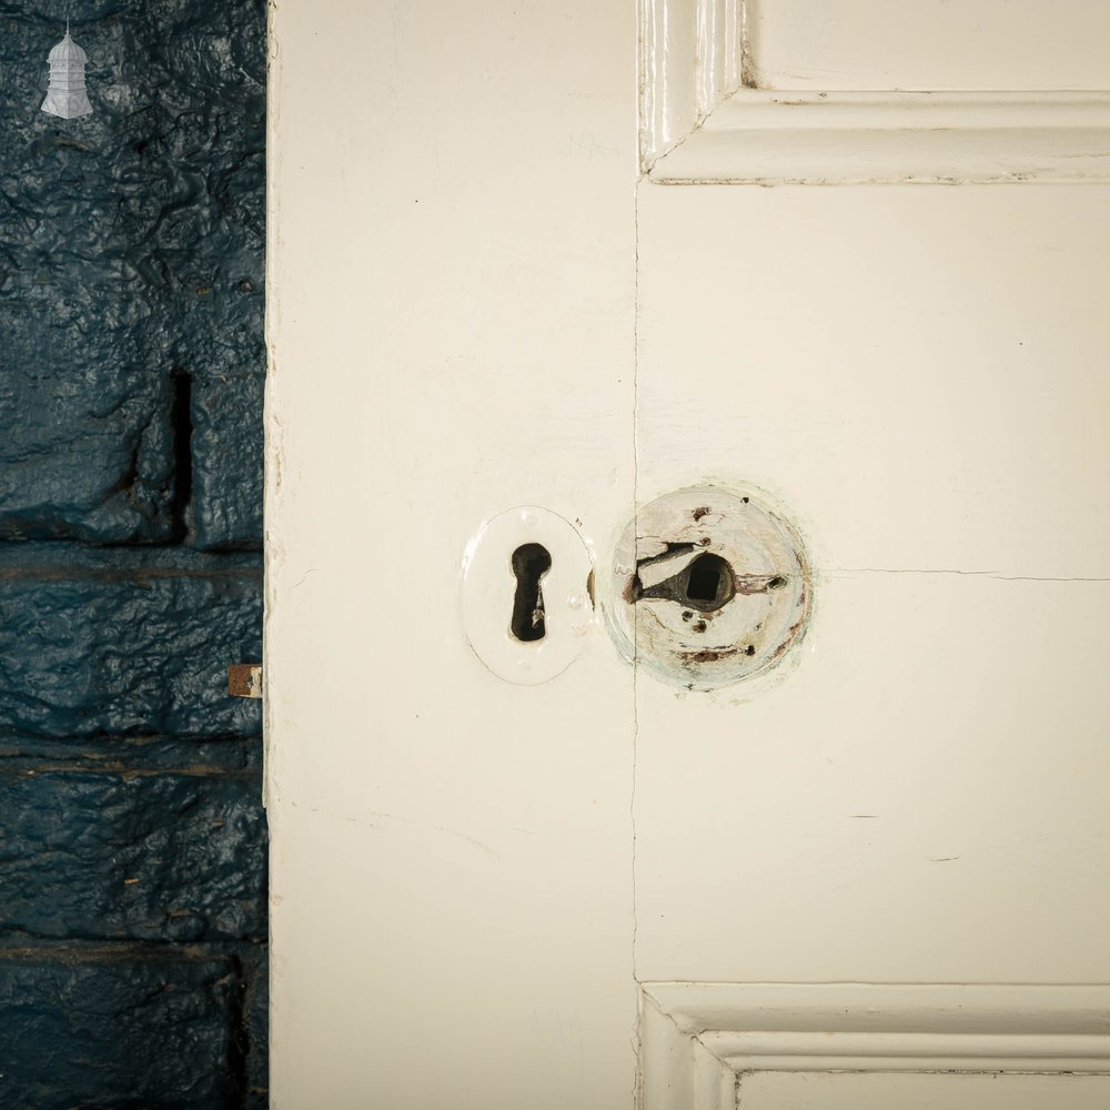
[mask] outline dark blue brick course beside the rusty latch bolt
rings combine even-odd
[[[258,562],[0,546],[0,734],[258,735],[226,675],[261,657]]]

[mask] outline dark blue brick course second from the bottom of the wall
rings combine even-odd
[[[258,768],[138,763],[0,774],[0,935],[265,940]]]

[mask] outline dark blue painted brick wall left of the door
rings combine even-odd
[[[0,0],[0,1106],[262,1107],[265,3]]]

